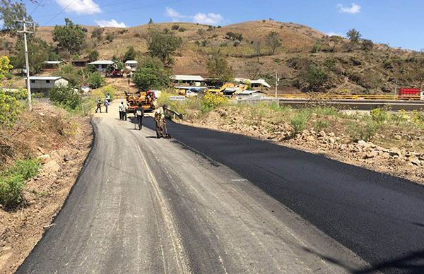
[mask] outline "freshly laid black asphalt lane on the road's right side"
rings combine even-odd
[[[423,186],[246,136],[173,123],[168,130],[373,266],[351,272],[424,273]]]

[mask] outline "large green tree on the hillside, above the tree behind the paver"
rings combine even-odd
[[[165,66],[172,65],[174,54],[181,47],[182,40],[173,33],[151,30],[148,35],[148,53],[152,57],[158,57]]]

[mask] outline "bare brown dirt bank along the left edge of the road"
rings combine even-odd
[[[27,182],[25,204],[0,208],[0,273],[13,273],[59,212],[83,167],[93,140],[90,119],[69,117],[63,110],[38,103],[12,131],[1,131],[2,165],[32,155],[42,161],[40,173]],[[7,155],[6,155],[7,153]]]

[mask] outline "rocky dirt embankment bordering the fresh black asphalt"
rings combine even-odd
[[[278,145],[324,155],[340,162],[375,170],[424,184],[423,129],[418,126],[383,126],[372,141],[353,141],[346,132],[348,119],[343,115],[312,115],[307,129],[293,136],[286,113],[252,107],[221,107],[187,124],[202,128],[244,134]],[[349,118],[352,119],[352,118]],[[320,121],[329,121],[326,129],[314,129]],[[362,126],[361,124],[357,125]],[[365,126],[364,126],[365,127]]]

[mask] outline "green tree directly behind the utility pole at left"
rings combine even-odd
[[[25,46],[23,39],[19,38],[15,44],[16,55],[13,56],[13,65],[16,68],[25,68]],[[28,40],[28,59],[30,63],[30,72],[40,71],[45,61],[49,59],[49,52],[53,52],[51,47],[40,38]]]

